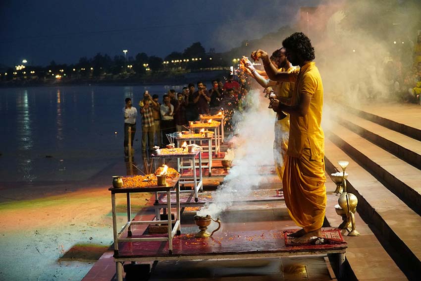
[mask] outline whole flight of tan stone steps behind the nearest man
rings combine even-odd
[[[346,110],[332,118],[334,130],[325,130],[326,171],[340,170],[337,161],[350,162],[347,186],[359,200],[360,216],[406,277],[419,280],[421,142],[414,137],[421,136],[421,129],[351,107]],[[421,108],[411,110],[421,114]],[[414,118],[400,115],[405,117]],[[358,260],[349,263],[353,270],[359,268]]]

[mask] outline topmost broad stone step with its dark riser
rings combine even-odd
[[[336,105],[335,107],[338,107]],[[413,104],[387,103],[373,105],[339,106],[346,111],[375,122],[383,127],[421,141],[421,122],[409,120],[420,116],[421,107]]]

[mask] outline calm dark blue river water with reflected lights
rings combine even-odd
[[[161,101],[182,87],[0,88],[0,182],[88,179],[124,156],[125,98],[137,107],[145,90]]]

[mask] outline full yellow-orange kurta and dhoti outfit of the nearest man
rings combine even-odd
[[[283,191],[291,218],[310,232],[323,225],[326,208],[324,134],[321,129],[323,85],[314,62],[304,65],[299,73],[291,73],[290,81],[295,82],[293,104],[303,95],[311,96],[311,103],[306,116],[290,116]]]

